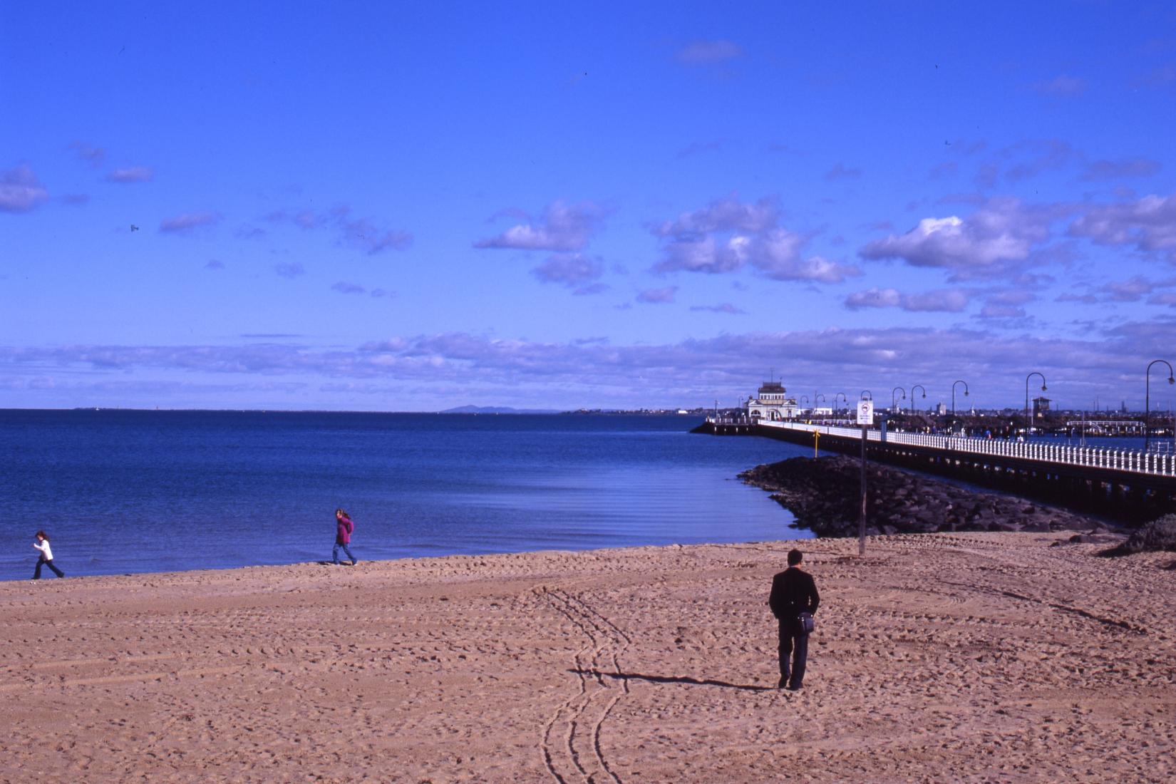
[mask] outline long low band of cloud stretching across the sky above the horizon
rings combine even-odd
[[[838,390],[889,389],[894,378],[918,381],[928,398],[950,397],[951,382],[968,381],[971,400],[983,407],[1017,404],[1024,374],[1034,368],[1049,378],[1061,407],[1095,395],[1120,400],[1123,378],[1138,377],[1155,356],[1170,350],[1176,314],[1169,319],[1097,328],[1081,337],[1002,335],[989,329],[861,328],[722,334],[661,344],[535,342],[466,333],[390,336],[354,348],[316,349],[289,341],[238,346],[75,344],[11,348],[0,346],[5,380],[24,383],[55,374],[101,381],[134,377],[151,383],[160,373],[230,374],[243,383],[373,381],[428,389],[436,395],[479,397],[536,389],[550,404],[622,407],[710,402],[751,391],[763,369],[788,357],[786,384]],[[27,371],[28,376],[20,373]],[[133,375],[128,374],[133,371]],[[1134,387],[1132,387],[1134,389]],[[1142,403],[1142,384],[1138,402]],[[1130,398],[1129,398],[1130,400]],[[579,403],[574,403],[579,401]]]

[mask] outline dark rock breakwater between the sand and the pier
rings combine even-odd
[[[767,490],[817,536],[856,536],[861,462],[793,457],[739,475]],[[867,464],[867,534],[1057,531],[1105,534],[1101,522],[1016,496],[978,492],[898,469]]]

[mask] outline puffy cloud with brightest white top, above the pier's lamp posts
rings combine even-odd
[[[1055,215],[1016,200],[989,201],[967,217],[924,217],[901,236],[868,242],[863,259],[901,259],[913,267],[940,267],[962,276],[1001,275],[1024,262],[1049,239]]]

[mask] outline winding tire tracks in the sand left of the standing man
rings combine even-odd
[[[543,764],[560,784],[608,780],[620,784],[621,778],[604,757],[600,736],[613,708],[629,693],[629,682],[624,677],[604,678],[602,674],[623,676],[620,656],[632,641],[624,630],[580,596],[546,587],[536,588],[535,595],[587,638],[587,644],[573,656],[580,690],[564,701],[543,726]]]

